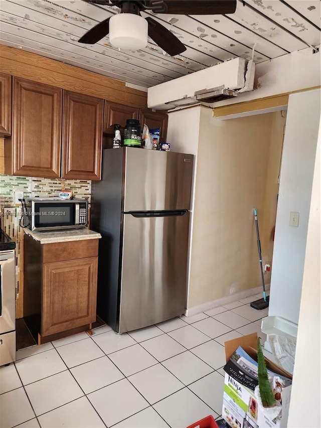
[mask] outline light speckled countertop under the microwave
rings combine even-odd
[[[66,230],[53,230],[53,231],[31,231],[27,228],[24,229],[27,235],[32,236],[36,241],[42,244],[51,244],[53,242],[68,242],[68,241],[81,241],[83,239],[99,239],[101,234],[93,230],[81,229],[66,229]]]

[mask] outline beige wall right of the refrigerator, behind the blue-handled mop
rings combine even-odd
[[[284,120],[281,112],[213,120],[212,110],[200,106],[169,114],[171,150],[196,155],[187,302],[191,313],[200,305],[261,287],[253,208],[259,212],[262,255],[268,262]],[[269,279],[267,274],[266,283]]]

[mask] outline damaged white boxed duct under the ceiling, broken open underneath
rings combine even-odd
[[[215,102],[251,91],[255,64],[252,60],[235,58],[187,76],[152,86],[147,90],[147,106],[169,110],[201,101]]]

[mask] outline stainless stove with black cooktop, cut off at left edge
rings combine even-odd
[[[0,229],[0,366],[16,360],[16,242]]]

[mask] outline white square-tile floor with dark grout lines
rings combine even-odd
[[[186,428],[222,410],[224,342],[257,332],[252,296],[117,335],[109,326],[17,352],[0,368],[0,426]],[[271,357],[271,354],[269,354]]]

